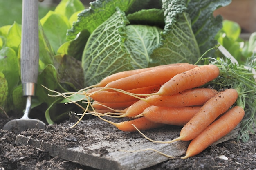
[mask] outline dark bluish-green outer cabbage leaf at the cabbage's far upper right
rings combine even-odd
[[[222,16],[215,18],[213,11],[230,3],[231,0],[188,0],[187,12],[201,54],[217,44],[214,38],[222,28]]]

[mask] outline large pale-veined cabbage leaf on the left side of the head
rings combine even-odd
[[[92,32],[82,57],[86,86],[94,85],[110,74],[133,69],[130,54],[124,48],[127,23],[125,13],[117,9]]]

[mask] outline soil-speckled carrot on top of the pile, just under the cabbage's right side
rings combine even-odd
[[[205,83],[217,78],[220,70],[216,65],[203,65],[189,69],[175,75],[171,80],[164,83],[155,94],[160,96],[169,96],[177,94],[186,89],[192,89],[204,85]]]

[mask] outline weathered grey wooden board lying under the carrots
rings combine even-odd
[[[61,129],[70,129],[70,125],[59,126],[60,131]],[[145,139],[139,132],[122,132],[113,125],[99,119],[83,121],[77,126],[77,128],[83,129],[82,137],[85,140],[77,141],[77,144],[73,147],[65,147],[57,140],[44,138],[42,134],[49,136],[51,133],[58,133],[47,129],[38,132],[40,139],[36,139],[36,136],[29,133],[22,133],[16,137],[16,144],[34,145],[41,150],[47,150],[53,157],[58,156],[65,160],[76,161],[82,165],[100,170],[140,170],[147,168],[169,158],[155,151],[142,151],[142,149],[153,148],[165,154],[180,157],[186,153],[186,148],[189,144],[189,141],[177,141],[169,144],[153,143]],[[238,130],[239,127],[218,141],[218,143],[236,138]],[[65,134],[65,136],[73,136],[76,139],[78,136],[74,132],[75,129],[61,133]],[[170,141],[179,135],[180,127],[166,126],[143,132],[154,140]],[[88,137],[92,140],[89,140]],[[135,150],[141,151],[131,152]]]

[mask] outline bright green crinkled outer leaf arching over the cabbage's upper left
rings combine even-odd
[[[94,29],[115,13],[116,7],[126,12],[134,2],[135,0],[97,0],[91,2],[90,8],[83,10],[79,14],[77,22],[67,31],[67,40],[75,39],[76,35],[83,30],[92,33]]]

